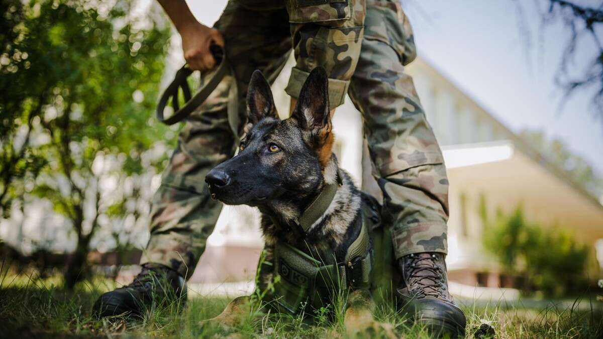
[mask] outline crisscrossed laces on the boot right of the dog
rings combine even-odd
[[[417,297],[431,296],[446,300],[444,272],[435,264],[437,257],[430,253],[419,253],[407,258],[405,270],[408,272],[408,285]]]

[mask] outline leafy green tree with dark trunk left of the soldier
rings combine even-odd
[[[158,17],[135,16],[132,5],[2,2],[8,20],[0,33],[1,207],[7,215],[11,197],[38,197],[69,221],[77,243],[69,287],[87,273],[99,225],[137,217],[140,208],[128,199],[148,186],[140,180],[144,167],[165,158],[144,155],[165,135],[149,113],[169,27]]]

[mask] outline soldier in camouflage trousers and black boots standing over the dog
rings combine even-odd
[[[228,78],[186,121],[163,173],[151,211],[148,242],[133,283],[103,294],[99,315],[140,312],[157,298],[154,277],[171,283],[164,294],[185,291],[212,233],[221,204],[210,199],[207,172],[233,156],[238,137],[227,117],[229,81],[238,86],[239,112],[251,73],[272,83],[291,50],[296,60],[286,92],[291,109],[309,72],[329,75],[332,113],[349,93],[364,119],[373,176],[384,195],[383,219],[391,227],[402,305],[427,326],[465,325],[447,290],[448,180],[444,160],[411,77],[416,57],[411,25],[396,0],[230,0],[209,28],[185,0],[159,0],[182,37],[186,62],[206,71],[216,65],[210,45],[223,46]],[[244,121],[244,118],[242,118]],[[239,126],[241,129],[242,126]],[[105,305],[101,307],[101,305]],[[463,330],[459,330],[461,334]]]

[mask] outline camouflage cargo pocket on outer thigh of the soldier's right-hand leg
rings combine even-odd
[[[412,27],[399,1],[367,0],[364,38],[387,43],[396,51],[402,65],[417,57]]]

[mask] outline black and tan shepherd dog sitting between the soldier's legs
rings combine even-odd
[[[291,117],[284,120],[270,85],[255,71],[238,154],[209,171],[206,183],[212,198],[261,212],[265,256],[257,290],[270,291],[265,297],[270,307],[299,314],[304,307],[333,302],[344,290],[349,293],[347,334],[396,337],[372,314],[370,230],[379,223],[380,206],[339,168],[331,118],[323,68],[309,74]],[[254,300],[238,297],[206,322],[236,326]]]

